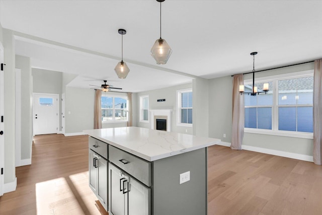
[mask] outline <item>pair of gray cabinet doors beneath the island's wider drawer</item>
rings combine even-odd
[[[111,215],[150,214],[150,188],[111,163],[109,164],[109,190]]]

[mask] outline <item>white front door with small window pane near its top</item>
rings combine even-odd
[[[57,133],[59,125],[58,94],[34,93],[34,133]]]

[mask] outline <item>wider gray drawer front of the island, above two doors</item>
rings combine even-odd
[[[109,161],[143,184],[151,186],[151,163],[109,145]]]

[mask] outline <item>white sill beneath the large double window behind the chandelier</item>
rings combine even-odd
[[[245,133],[258,133],[258,134],[267,134],[275,136],[289,136],[305,139],[313,139],[313,133],[308,132],[294,132],[294,131],[273,131],[266,129],[254,129],[254,128],[244,128]]]

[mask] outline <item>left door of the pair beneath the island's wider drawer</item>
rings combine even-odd
[[[111,215],[125,215],[123,181],[121,170],[109,163],[109,213]]]

